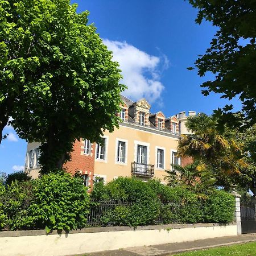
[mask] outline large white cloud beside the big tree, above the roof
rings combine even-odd
[[[126,42],[108,39],[103,42],[113,52],[113,60],[120,64],[123,76],[121,82],[128,87],[123,94],[133,100],[143,97],[149,102],[158,100],[164,90],[162,82],[159,81],[161,69],[168,68],[169,64],[166,55],[148,55]]]

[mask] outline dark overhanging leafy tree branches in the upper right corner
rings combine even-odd
[[[210,47],[195,63],[200,76],[208,71],[215,75],[215,79],[201,85],[205,88],[203,94],[221,93],[222,98],[229,100],[239,97],[243,123],[255,123],[256,0],[189,0],[189,3],[199,9],[196,23],[205,19],[218,27]],[[241,125],[231,109],[232,105],[226,105],[215,113],[230,125]]]

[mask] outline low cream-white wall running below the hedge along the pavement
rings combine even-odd
[[[175,225],[164,226],[166,228],[154,226],[154,229],[148,230],[126,228],[128,230],[52,234],[48,236],[0,237],[0,255],[73,255],[133,246],[158,245],[237,235],[236,224],[225,226],[209,226],[207,224],[205,226],[203,224],[184,225],[186,227],[189,226],[189,228],[171,228],[171,226]],[[170,228],[167,228],[167,226]],[[108,230],[108,228],[103,228],[103,230]],[[109,230],[113,229],[110,228]]]

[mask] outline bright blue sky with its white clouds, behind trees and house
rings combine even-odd
[[[211,114],[230,103],[217,94],[204,97],[200,84],[211,78],[188,71],[210,44],[216,28],[195,24],[197,10],[182,0],[77,0],[78,12],[89,10],[89,23],[97,32],[123,72],[124,92],[131,100],[145,97],[151,112],[162,110],[166,117],[193,110]],[[241,108],[232,101],[235,110]],[[0,145],[0,171],[7,173],[24,166],[26,142],[12,127]]]

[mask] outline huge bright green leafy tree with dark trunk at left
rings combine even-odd
[[[42,142],[42,172],[61,168],[73,142],[118,126],[118,63],[68,0],[0,1],[0,125]]]

